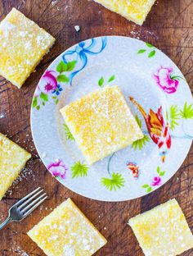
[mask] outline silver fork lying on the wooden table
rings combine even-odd
[[[20,199],[10,209],[7,219],[0,224],[0,230],[10,222],[20,222],[43,203],[47,199],[46,193],[41,194],[43,190],[40,187],[27,194],[23,199]],[[40,195],[41,194],[41,195]],[[38,197],[37,197],[38,196]]]

